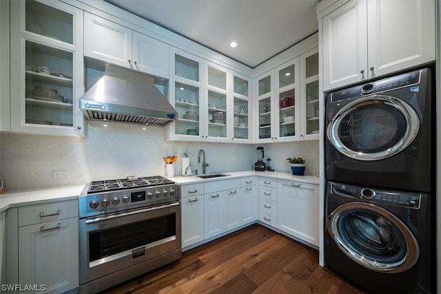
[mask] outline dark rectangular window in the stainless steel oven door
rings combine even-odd
[[[176,235],[176,213],[89,233],[89,261]]]

